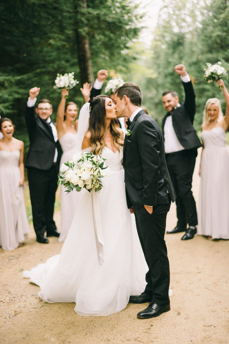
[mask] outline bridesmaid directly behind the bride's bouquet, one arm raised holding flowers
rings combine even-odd
[[[62,98],[57,110],[56,129],[58,139],[61,144],[63,154],[60,161],[60,166],[67,161],[72,160],[72,155],[76,153],[77,145],[77,127],[78,108],[72,101],[66,104],[66,96],[68,96],[68,89],[62,89]],[[63,185],[60,185],[60,209],[61,209],[61,233],[59,241],[65,241],[69,228],[71,226],[73,216],[79,204],[81,194],[78,192],[66,193]]]

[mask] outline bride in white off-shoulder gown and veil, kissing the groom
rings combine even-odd
[[[126,204],[123,132],[115,105],[110,97],[97,96],[90,107],[90,118],[89,103],[79,118],[82,150],[102,152],[111,172],[103,178],[98,194],[104,262],[98,260],[91,193],[84,189],[60,255],[24,271],[23,276],[40,286],[38,295],[47,302],[75,302],[79,315],[107,316],[123,310],[130,295],[144,291],[148,267]]]

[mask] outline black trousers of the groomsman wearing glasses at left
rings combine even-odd
[[[53,220],[58,175],[56,166],[49,170],[27,167],[28,185],[33,213],[33,227],[37,236],[57,229]]]

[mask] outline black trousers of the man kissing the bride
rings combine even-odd
[[[138,236],[149,267],[145,293],[152,297],[152,302],[159,304],[169,303],[170,272],[164,234],[170,205],[169,196],[169,203],[153,207],[152,214],[145,207],[134,207]]]

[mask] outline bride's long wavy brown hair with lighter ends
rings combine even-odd
[[[93,154],[100,154],[101,150],[105,147],[105,142],[103,140],[106,132],[106,108],[105,108],[105,98],[110,98],[108,96],[96,96],[90,100],[90,118],[88,131],[91,132],[91,152]],[[120,146],[123,146],[123,140],[121,138],[121,133],[119,131],[118,120],[112,118],[110,126],[111,135],[113,136],[113,143],[115,148],[120,151]]]

